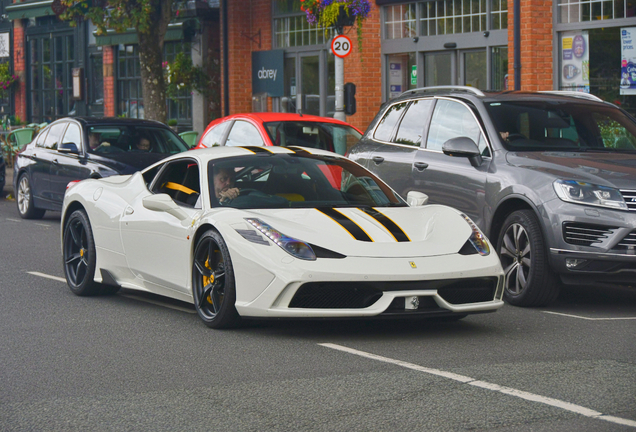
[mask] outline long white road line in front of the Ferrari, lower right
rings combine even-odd
[[[463,376],[463,375],[458,375],[458,374],[454,374],[452,372],[446,372],[440,369],[431,369],[431,368],[427,368],[427,367],[423,367],[423,366],[419,366],[413,363],[407,363],[405,361],[401,361],[401,360],[396,360],[396,359],[392,359],[392,358],[388,358],[388,357],[383,357],[383,356],[379,356],[376,354],[371,354],[365,351],[359,351],[353,348],[347,348],[344,347],[342,345],[336,345],[336,344],[331,344],[331,343],[321,343],[318,344],[320,346],[323,346],[325,348],[331,348],[331,349],[335,349],[338,351],[344,351],[347,352],[349,354],[353,354],[353,355],[357,355],[360,357],[365,357],[371,360],[377,360],[377,361],[381,361],[384,363],[390,363],[390,364],[394,364],[397,366],[401,366],[407,369],[412,369],[412,370],[416,370],[418,372],[424,372],[424,373],[428,373],[431,375],[436,375],[436,376],[440,376],[443,378],[448,378],[448,379],[452,379],[454,381],[459,381],[463,384],[468,384],[468,385],[472,385],[475,387],[479,387],[479,388],[483,388],[486,390],[491,390],[491,391],[496,391],[499,393],[503,393],[506,395],[510,395],[510,396],[514,396],[514,397],[518,397],[521,399],[525,399],[531,402],[539,402],[542,404],[546,404],[546,405],[550,405],[556,408],[561,408],[563,410],[566,411],[570,411],[573,412],[575,414],[580,414],[586,417],[591,417],[591,418],[595,418],[595,419],[599,419],[599,420],[605,420],[611,423],[616,423],[616,424],[620,424],[620,425],[625,425],[625,426],[631,426],[631,427],[636,427],[636,421],[634,420],[629,420],[629,419],[624,419],[624,418],[620,418],[620,417],[614,417],[614,416],[610,416],[610,415],[604,415],[603,413],[600,413],[598,411],[594,411],[591,410],[589,408],[585,408],[583,406],[580,405],[575,405],[569,402],[565,402],[559,399],[553,399],[550,397],[546,397],[546,396],[541,396],[541,395],[537,395],[534,393],[528,393],[522,390],[517,390],[517,389],[513,389],[510,387],[502,387],[500,385],[497,384],[492,384],[489,382],[485,382],[485,381],[478,381],[474,378],[470,378],[467,376]]]

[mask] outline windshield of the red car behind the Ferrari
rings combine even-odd
[[[362,136],[351,126],[329,122],[290,120],[268,122],[264,126],[274,145],[317,148],[341,155]]]

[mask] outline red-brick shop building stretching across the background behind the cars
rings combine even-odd
[[[630,30],[636,34],[636,0],[519,1],[522,90],[587,91],[636,114],[636,95],[619,87],[621,61],[636,68],[636,54],[621,58],[621,35]],[[4,108],[29,122],[68,114],[143,116],[134,34],[95,37],[90,23],[71,29],[56,20],[52,3],[0,0],[5,17],[0,36],[9,34],[11,66],[20,76],[20,86]],[[202,2],[190,3],[198,8]],[[333,115],[333,31],[309,26],[299,1],[204,3],[211,13],[193,15],[198,23],[193,40],[185,37],[184,21],[179,20],[166,37],[167,60],[186,51],[195,63],[207,65],[213,78],[207,100],[184,94],[168,101],[169,117],[178,119],[181,129],[202,131],[214,117],[245,111],[302,109]],[[344,60],[344,80],[357,86],[357,112],[347,118],[353,125],[365,129],[383,102],[411,88],[514,88],[512,2],[371,0],[371,5],[360,45],[355,26],[344,30],[353,45]],[[7,22],[12,22],[9,29]],[[53,57],[42,57],[47,47]],[[83,100],[69,97],[66,72],[59,74],[59,82],[45,80],[50,71],[42,64],[47,61],[54,73],[59,67],[85,69]],[[275,90],[266,85],[263,91],[257,82],[263,62],[278,68]],[[633,81],[636,92],[636,75]]]

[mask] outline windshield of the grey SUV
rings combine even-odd
[[[636,123],[609,105],[515,101],[486,108],[510,151],[636,150]]]

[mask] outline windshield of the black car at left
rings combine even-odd
[[[175,154],[188,150],[170,129],[152,126],[96,125],[88,128],[87,150],[109,154],[144,152]]]

